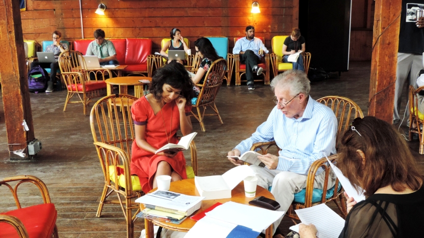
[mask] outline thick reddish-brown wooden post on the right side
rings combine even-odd
[[[390,124],[393,120],[401,10],[402,0],[376,0],[368,115]]]

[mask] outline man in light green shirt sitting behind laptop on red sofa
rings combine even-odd
[[[96,29],[94,31],[95,40],[87,48],[86,55],[96,55],[100,65],[119,65],[116,60],[116,50],[112,41],[104,39],[104,31]]]

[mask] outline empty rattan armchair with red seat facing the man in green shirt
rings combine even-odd
[[[59,67],[68,91],[63,111],[66,111],[68,103],[83,103],[84,115],[87,115],[91,99],[106,95],[105,75],[112,77],[112,73],[109,69],[87,69],[84,58],[81,56],[80,52],[72,50],[59,55]],[[98,78],[99,75],[100,78]],[[90,76],[94,79],[90,79]],[[80,100],[70,102],[74,95],[77,95]]]

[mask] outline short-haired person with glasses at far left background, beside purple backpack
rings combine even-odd
[[[48,45],[44,52],[53,52],[55,54],[56,62],[53,63],[41,63],[38,61],[34,61],[30,65],[30,69],[36,66],[40,66],[41,68],[50,68],[50,79],[47,81],[47,89],[46,93],[53,92],[53,83],[56,81],[56,73],[59,69],[59,54],[68,50],[68,45],[65,43],[61,43],[60,40],[62,38],[62,33],[59,31],[54,31],[52,34],[53,44]]]

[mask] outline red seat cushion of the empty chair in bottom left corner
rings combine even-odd
[[[2,215],[11,215],[18,218],[31,238],[51,237],[55,229],[56,212],[53,203],[39,204],[2,213]],[[0,237],[19,237],[15,228],[7,223],[0,223]]]

